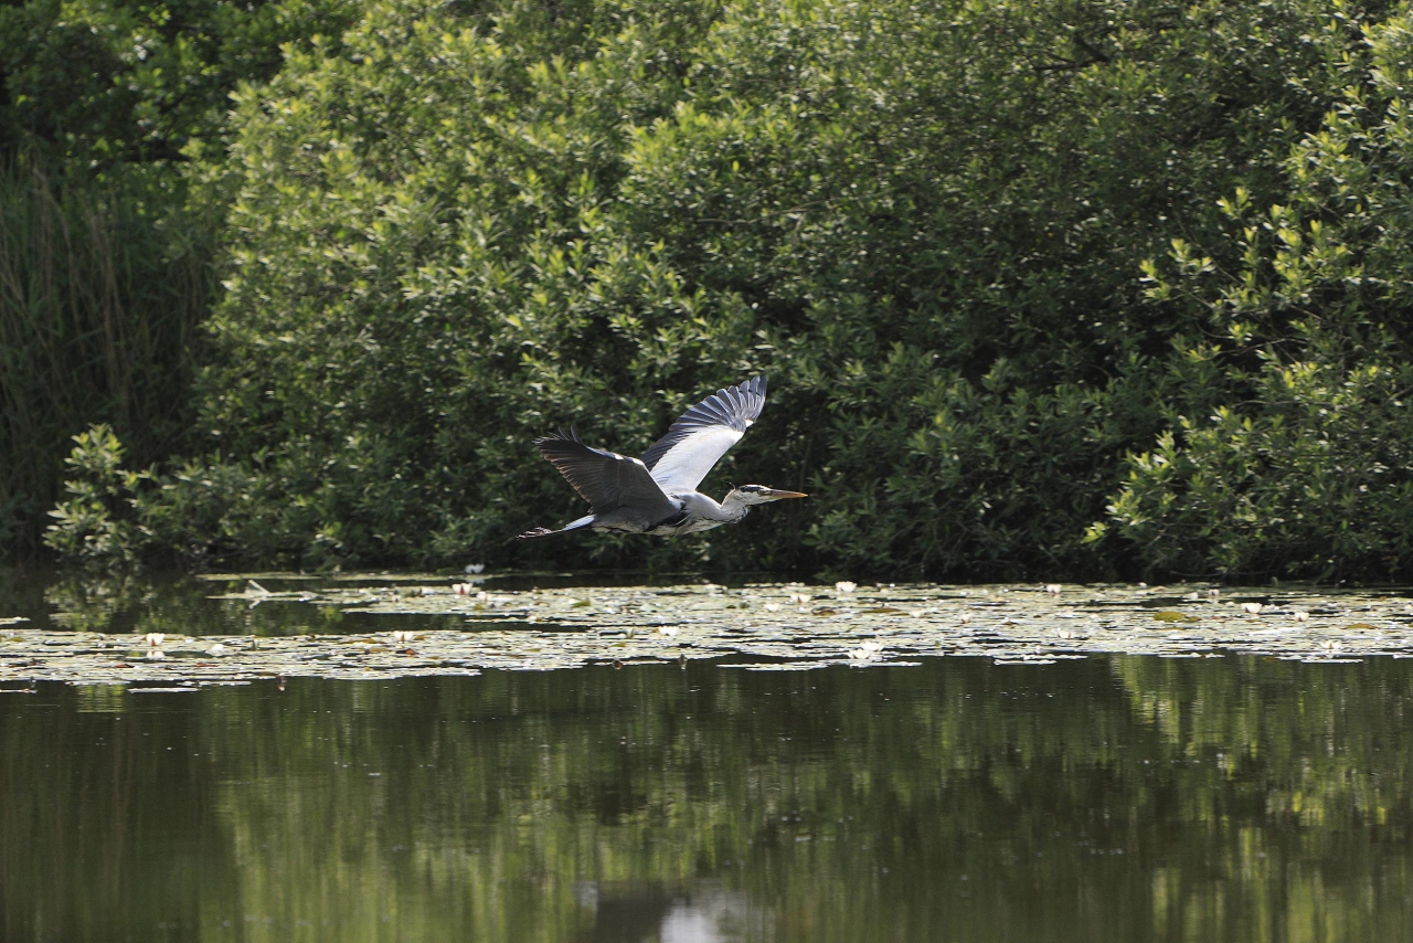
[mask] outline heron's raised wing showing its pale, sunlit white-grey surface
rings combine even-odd
[[[695,491],[722,455],[740,441],[766,406],[766,377],[716,390],[682,413],[653,443],[643,464],[664,492]]]

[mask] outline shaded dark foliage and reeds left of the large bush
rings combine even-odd
[[[229,95],[345,0],[0,6],[0,557],[42,533],[69,437],[141,462],[191,427]]]

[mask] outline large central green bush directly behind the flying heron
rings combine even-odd
[[[1132,571],[1084,539],[1123,455],[1245,382],[1225,349],[1193,372],[1212,312],[1143,264],[1287,199],[1379,16],[370,3],[237,95],[199,454],[144,515],[319,566]],[[811,500],[503,547],[578,513],[534,435],[643,448],[755,370],[770,407],[712,481]]]

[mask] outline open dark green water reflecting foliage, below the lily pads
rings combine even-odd
[[[1413,660],[0,694],[0,939],[1413,940]]]

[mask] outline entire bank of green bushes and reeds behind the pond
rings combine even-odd
[[[1405,6],[31,0],[0,40],[0,556],[1413,577]],[[504,544],[574,513],[536,435],[632,451],[756,372],[706,486],[808,506]]]

